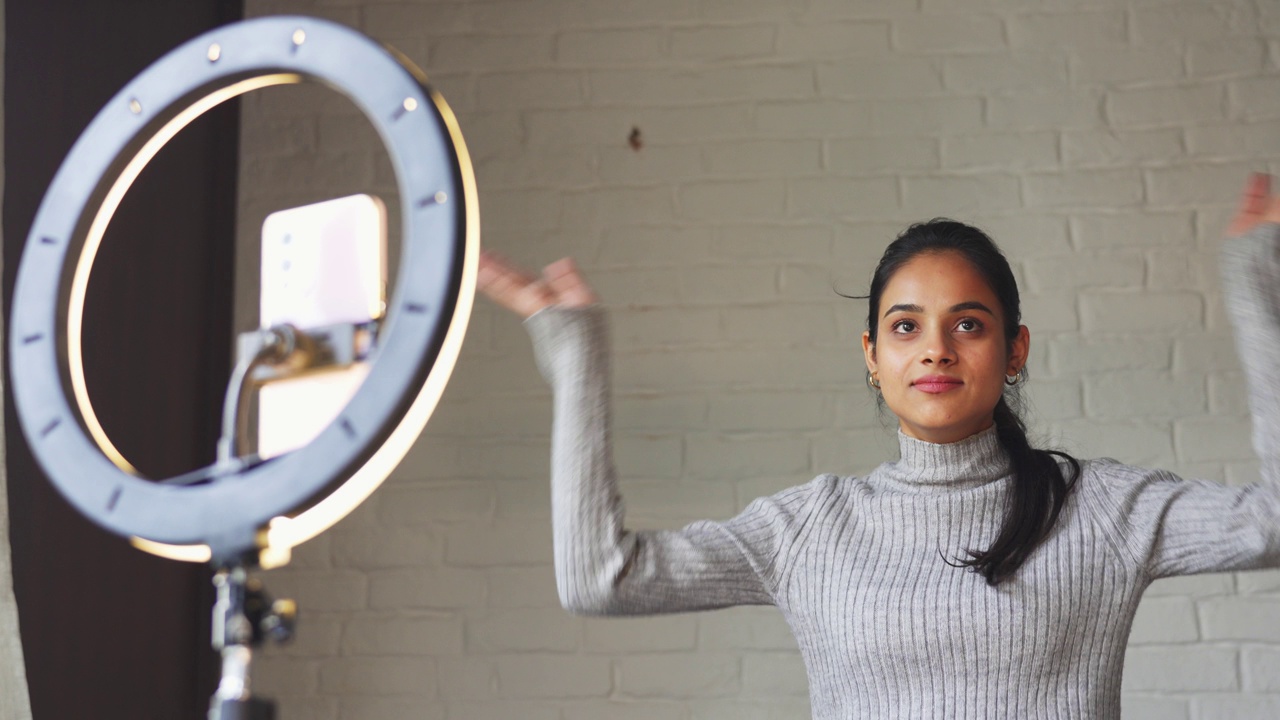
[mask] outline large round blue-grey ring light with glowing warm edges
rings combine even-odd
[[[378,129],[402,205],[402,251],[372,368],[306,447],[202,486],[137,477],[84,392],[84,288],[111,214],[146,163],[230,97],[320,81]],[[9,357],[18,420],[50,480],[142,550],[192,561],[288,560],[362,502],[426,424],[475,293],[475,176],[453,113],[394,50],[347,27],[268,17],[210,31],[143,70],[81,135],[36,214],[18,269]],[[68,395],[70,388],[70,395]]]

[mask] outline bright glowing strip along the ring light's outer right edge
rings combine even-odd
[[[453,320],[445,332],[444,343],[435,360],[431,373],[422,383],[421,391],[413,398],[412,405],[404,414],[399,425],[392,430],[387,442],[358,469],[356,473],[328,497],[308,507],[294,518],[275,518],[266,532],[269,547],[294,547],[324,530],[338,520],[347,516],[364,502],[378,486],[387,479],[396,465],[404,459],[413,441],[421,434],[426,421],[431,418],[444,386],[453,374],[453,366],[462,351],[462,338],[467,332],[467,322],[471,318],[471,306],[475,302],[476,268],[480,258],[480,208],[476,202],[475,170],[471,165],[471,156],[462,142],[462,132],[458,129],[457,118],[444,102],[444,99],[431,94],[431,101],[440,111],[453,146],[458,152],[458,167],[462,170],[462,196],[466,199],[466,250],[462,264],[462,282],[458,287],[458,301],[453,307]]]

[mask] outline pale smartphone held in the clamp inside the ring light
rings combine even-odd
[[[351,195],[271,213],[261,247],[261,327],[289,323],[306,332],[385,313],[387,208],[378,197]],[[275,457],[311,442],[367,374],[369,363],[355,363],[262,383],[257,455]]]

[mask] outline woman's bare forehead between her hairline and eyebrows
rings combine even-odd
[[[964,255],[924,252],[893,273],[881,295],[881,313],[893,305],[919,305],[927,313],[945,311],[961,302],[982,302],[1000,313],[1000,300],[987,279]]]

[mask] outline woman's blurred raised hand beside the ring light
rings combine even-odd
[[[596,301],[595,292],[577,272],[572,258],[543,268],[541,277],[526,273],[495,252],[480,252],[480,292],[503,307],[527,318],[549,305],[582,307]]]

